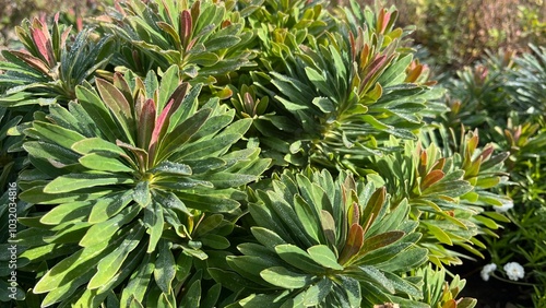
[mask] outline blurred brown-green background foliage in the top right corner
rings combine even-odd
[[[333,2],[344,3],[346,0]],[[373,4],[375,0],[363,0]],[[459,69],[486,50],[529,51],[546,43],[544,0],[383,0],[395,5],[400,26],[415,26],[413,39],[434,63]]]

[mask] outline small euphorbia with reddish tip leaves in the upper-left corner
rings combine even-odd
[[[23,50],[3,50],[7,61],[0,62],[0,105],[67,104],[75,98],[75,87],[84,81],[93,81],[97,69],[108,63],[112,51],[110,36],[97,40],[86,28],[71,42],[71,26],[59,23],[55,16],[52,26],[38,19],[25,20],[16,27]]]

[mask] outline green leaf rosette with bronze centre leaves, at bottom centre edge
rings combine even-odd
[[[240,306],[420,307],[413,300],[422,296],[418,277],[403,277],[427,260],[426,249],[415,246],[420,234],[407,220],[407,203],[391,211],[384,188],[346,173],[334,180],[325,170],[285,171],[272,187],[252,193],[257,242],[228,257],[234,272],[210,270],[224,285],[253,292]]]

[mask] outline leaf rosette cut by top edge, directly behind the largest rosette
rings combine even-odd
[[[126,44],[114,61],[133,71],[178,66],[192,83],[222,83],[251,66],[246,48],[253,33],[245,27],[236,1],[142,1],[120,3],[102,25]],[[256,8],[250,8],[256,10]]]

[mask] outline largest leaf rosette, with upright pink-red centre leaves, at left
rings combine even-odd
[[[34,287],[44,306],[95,307],[112,293],[123,307],[176,305],[187,257],[229,247],[240,188],[270,161],[236,147],[250,120],[218,98],[200,105],[200,90],[175,66],[161,82],[128,71],[35,114],[23,145],[35,169],[20,185],[36,213],[15,242],[20,258],[57,260]]]

